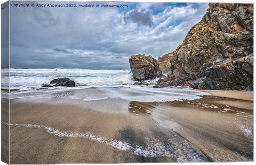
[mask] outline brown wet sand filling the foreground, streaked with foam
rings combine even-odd
[[[253,102],[220,92],[171,102],[11,99],[10,163],[253,161]]]

